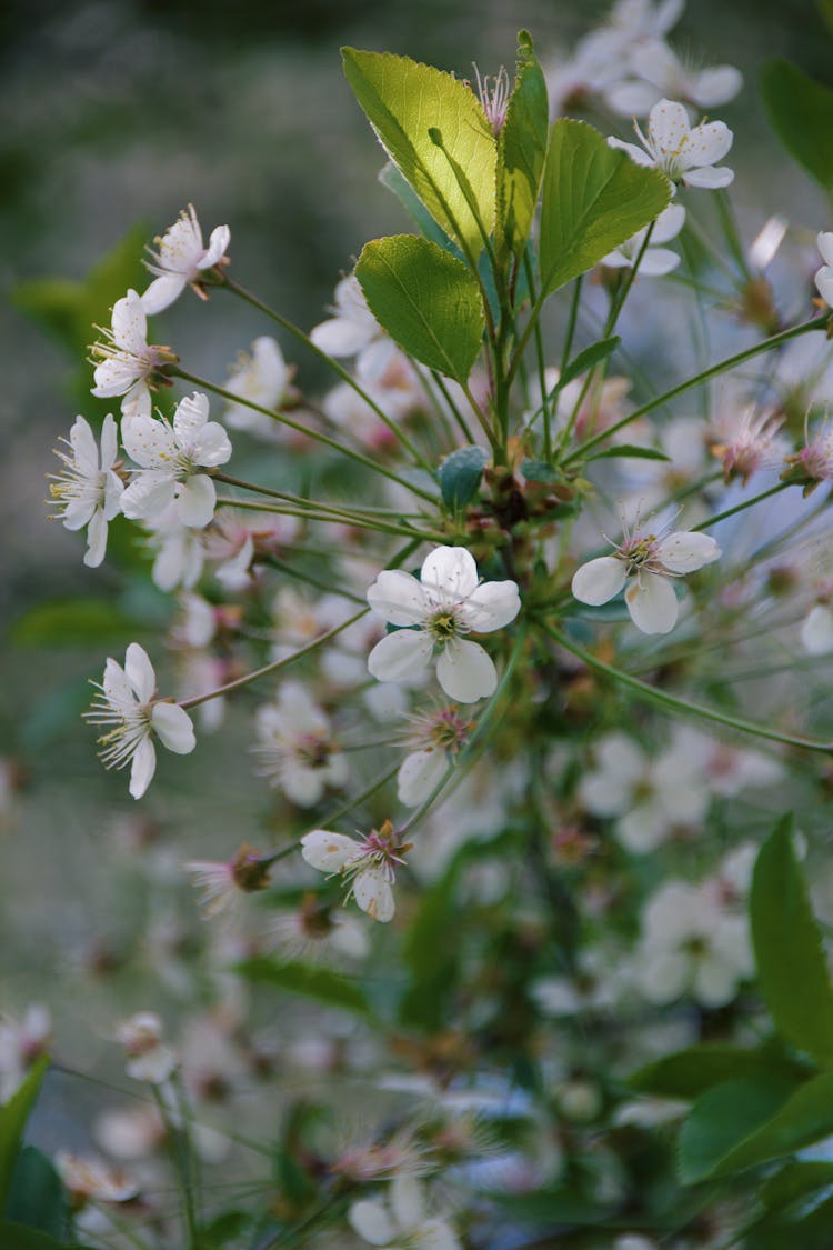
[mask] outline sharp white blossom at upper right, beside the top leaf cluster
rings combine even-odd
[[[643,148],[621,139],[608,139],[608,144],[621,148],[637,165],[658,169],[672,182],[712,190],[728,186],[734,179],[727,166],[716,168],[732,146],[732,131],[726,122],[703,121],[692,129],[684,105],[659,100],[648,116],[648,134],[636,122],[634,128]]]

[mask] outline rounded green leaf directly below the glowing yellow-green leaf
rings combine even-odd
[[[416,235],[373,239],[356,278],[395,342],[428,369],[465,382],[483,338],[480,288],[462,260]]]

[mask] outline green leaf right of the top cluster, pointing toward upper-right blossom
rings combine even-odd
[[[559,118],[550,131],[541,208],[541,289],[578,278],[671,200],[668,179],[634,164],[584,121]]]

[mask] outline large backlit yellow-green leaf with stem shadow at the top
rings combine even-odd
[[[497,164],[497,141],[477,96],[453,75],[407,56],[355,48],[343,48],[342,56],[347,81],[391,160],[445,232],[477,256],[482,231],[488,236],[495,226]]]

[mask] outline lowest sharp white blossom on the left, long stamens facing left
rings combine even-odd
[[[101,760],[109,769],[130,764],[130,794],[141,799],[156,771],[154,738],[169,751],[189,755],[196,746],[191,718],[155,698],[156,674],[139,642],[127,648],[124,669],[109,659],[101,685],[94,685],[99,694],[86,720],[106,730],[99,738]]]

